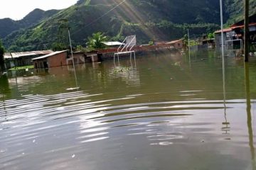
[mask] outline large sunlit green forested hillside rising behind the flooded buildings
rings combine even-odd
[[[74,6],[42,18],[38,23],[35,19],[36,25],[28,23],[26,26],[29,28],[12,31],[5,36],[4,45],[15,51],[48,49],[54,42],[68,45],[67,30],[59,29],[62,24],[60,19],[68,20],[73,43],[84,46],[87,37],[97,31],[106,33],[112,40],[122,40],[126,35],[136,34],[139,43],[147,43],[149,40],[181,38],[187,28],[191,30],[192,37],[219,28],[219,1],[122,1],[80,0]],[[255,2],[251,4],[255,9]],[[235,7],[240,11],[233,9]],[[238,19],[242,13],[242,2],[227,0],[225,11],[225,22]],[[32,21],[31,18],[29,21]]]

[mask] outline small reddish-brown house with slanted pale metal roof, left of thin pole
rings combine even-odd
[[[35,69],[48,68],[48,67],[60,67],[67,65],[68,50],[52,52],[48,55],[33,58],[33,65]]]

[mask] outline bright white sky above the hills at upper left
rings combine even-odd
[[[0,19],[20,20],[35,8],[43,10],[68,8],[78,0],[2,0]]]

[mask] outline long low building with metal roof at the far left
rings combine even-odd
[[[4,60],[6,61],[6,68],[22,67],[32,65],[32,58],[41,57],[52,53],[52,50],[43,51],[31,51],[31,52],[11,52],[4,54]]]

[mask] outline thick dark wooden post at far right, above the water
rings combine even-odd
[[[249,0],[244,0],[245,5],[245,62],[249,62]]]

